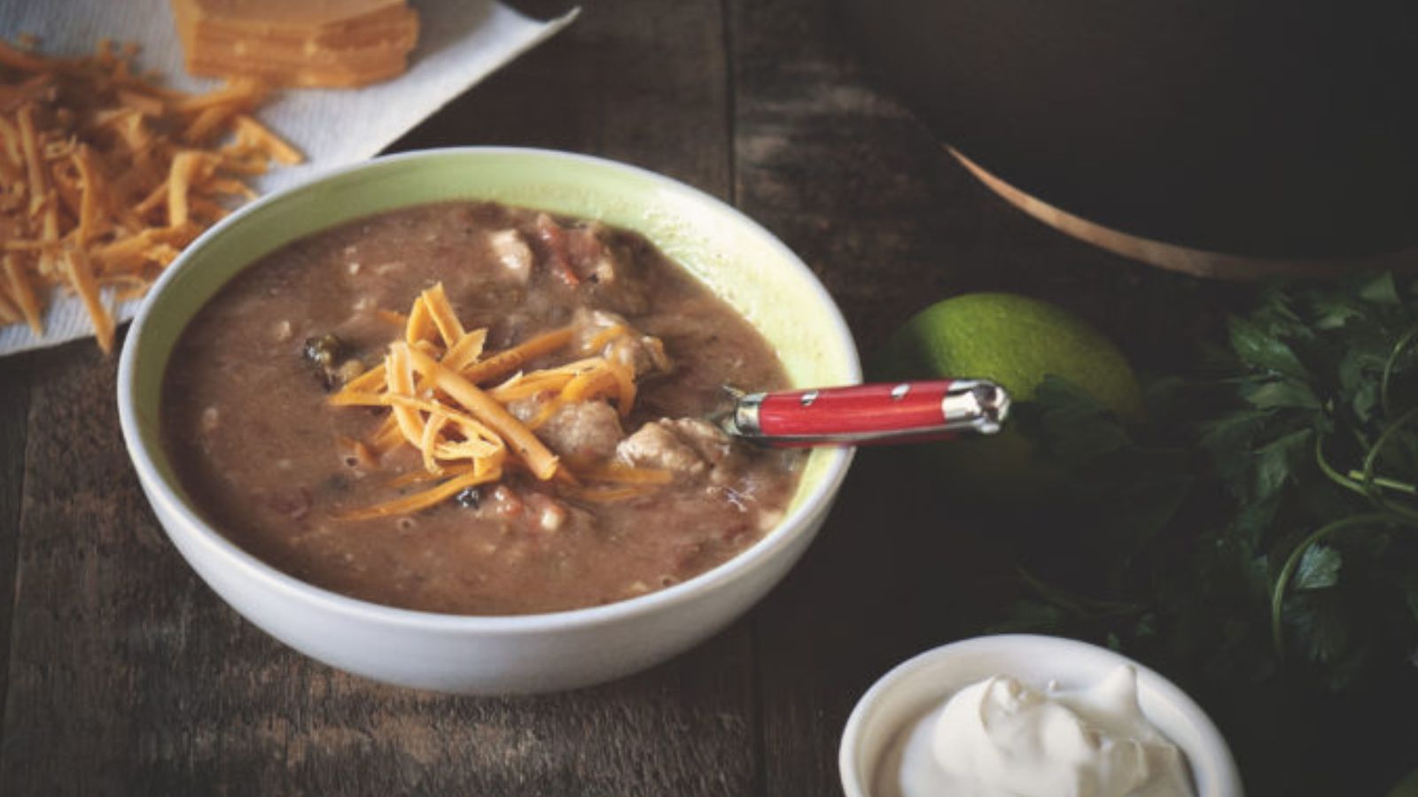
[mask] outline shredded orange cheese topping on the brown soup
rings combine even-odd
[[[397,315],[397,313],[386,313]],[[329,403],[336,407],[390,407],[390,416],[369,442],[349,445],[366,464],[408,445],[423,457],[423,471],[406,474],[390,486],[441,479],[432,488],[340,516],[364,520],[407,515],[434,506],[458,492],[502,478],[506,468],[530,472],[540,481],[560,481],[586,501],[618,501],[668,484],[671,474],[605,462],[573,472],[537,438],[535,430],[562,407],[607,398],[628,416],[635,401],[635,374],[613,359],[583,357],[563,366],[523,372],[526,363],[566,349],[574,329],[545,332],[510,349],[484,357],[486,329],[467,330],[458,321],[442,284],[414,299],[404,321],[404,336],[389,345],[384,362],[347,381]],[[635,335],[624,325],[591,338],[584,350],[600,350],[621,335]],[[492,387],[479,387],[501,381]],[[518,420],[508,404],[549,396],[536,416]],[[587,486],[610,482],[615,486]]]

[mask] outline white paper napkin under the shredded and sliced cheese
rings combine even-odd
[[[408,71],[360,89],[284,89],[258,116],[305,153],[308,162],[274,167],[254,182],[261,193],[315,173],[376,155],[498,67],[537,45],[576,18],[579,9],[546,23],[492,0],[410,0],[420,16],[418,47]],[[101,38],[135,41],[139,67],[157,69],[180,89],[217,85],[183,71],[182,44],[169,0],[0,0],[0,38],[40,37],[55,54],[92,52]],[[118,321],[133,318],[139,302],[113,306]],[[54,346],[92,335],[77,298],[55,295],[44,318],[44,338],[28,326],[0,328],[0,356]]]

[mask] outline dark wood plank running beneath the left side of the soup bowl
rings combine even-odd
[[[400,146],[557,146],[727,194],[722,31],[718,0],[598,3]],[[747,624],[545,698],[330,671],[237,617],[166,542],[119,440],[113,363],[79,343],[35,366],[0,793],[754,793]]]

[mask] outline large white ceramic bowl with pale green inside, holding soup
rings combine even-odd
[[[267,196],[193,243],[157,281],[119,362],[123,438],[159,522],[213,590],[319,661],[424,689],[540,692],[664,661],[727,625],[803,554],[851,462],[818,450],[783,522],[730,562],[621,603],[519,617],[408,611],[294,579],[228,542],[183,492],[162,445],[162,376],[197,309],[242,268],[306,234],[411,204],[481,199],[600,218],[645,234],[735,305],[794,384],[859,381],[841,313],[811,271],[719,200],[649,172],[579,155],[474,147],[383,157]]]

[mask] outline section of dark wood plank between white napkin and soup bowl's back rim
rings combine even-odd
[[[527,6],[550,16],[547,3]],[[644,166],[727,197],[725,81],[718,3],[596,3],[556,40],[390,149],[564,149]]]

